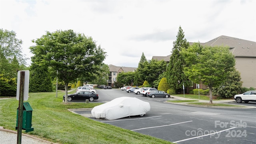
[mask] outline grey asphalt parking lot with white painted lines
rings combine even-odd
[[[172,98],[148,98],[121,90],[98,90],[102,100],[131,96],[150,102],[143,117],[117,120],[90,117],[90,110],[75,111],[92,120],[154,136],[178,144],[255,144],[255,109],[200,108],[164,103]],[[99,98],[100,101],[100,98]],[[253,104],[251,104],[253,105]],[[253,105],[254,106],[254,105]]]

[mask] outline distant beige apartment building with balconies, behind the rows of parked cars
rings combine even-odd
[[[116,77],[118,73],[121,72],[135,72],[137,68],[124,67],[124,66],[114,66],[112,64],[108,65],[110,74],[108,75],[108,86],[115,87]]]

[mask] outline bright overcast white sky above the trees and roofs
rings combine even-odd
[[[136,68],[142,53],[170,55],[179,26],[188,42],[222,35],[256,42],[256,1],[0,0],[0,28],[16,32],[26,58],[32,40],[71,29],[107,52],[105,64]]]

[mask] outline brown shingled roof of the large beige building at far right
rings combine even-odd
[[[233,38],[230,36],[219,36],[206,43],[200,43],[203,46],[228,46],[230,51],[236,57],[256,57],[256,42]]]

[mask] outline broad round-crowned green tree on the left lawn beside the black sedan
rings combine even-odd
[[[73,30],[46,32],[32,42],[36,43],[36,46],[30,47],[35,62],[49,66],[54,74],[58,70],[58,80],[65,83],[65,103],[68,83],[80,77],[91,76],[91,73],[99,70],[97,65],[102,64],[106,58],[106,52],[96,45],[92,37]]]

